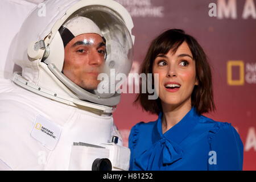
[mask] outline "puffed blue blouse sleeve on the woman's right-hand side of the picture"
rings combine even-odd
[[[243,143],[230,123],[217,122],[209,133],[209,170],[240,171],[243,166]]]

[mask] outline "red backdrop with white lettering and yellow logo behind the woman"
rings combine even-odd
[[[134,21],[132,72],[138,72],[151,40],[168,28],[181,28],[199,41],[212,67],[217,107],[207,117],[236,127],[244,145],[243,169],[256,170],[256,1],[118,2],[129,10]],[[209,7],[210,3],[214,4]],[[115,123],[126,146],[135,123],[157,118],[134,106],[134,98],[135,94],[122,94],[121,103],[114,112]]]

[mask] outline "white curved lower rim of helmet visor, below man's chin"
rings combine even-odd
[[[90,101],[96,104],[105,105],[105,106],[116,106],[120,101],[120,94],[115,93],[113,96],[97,96],[96,94],[90,93],[85,89],[80,88],[74,84],[68,77],[63,75],[61,71],[53,64],[48,64],[49,70],[55,75],[65,86],[76,93],[77,97],[83,101]]]

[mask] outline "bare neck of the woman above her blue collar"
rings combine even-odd
[[[181,105],[168,105],[162,102],[162,131],[163,134],[170,130],[191,110],[191,99]]]

